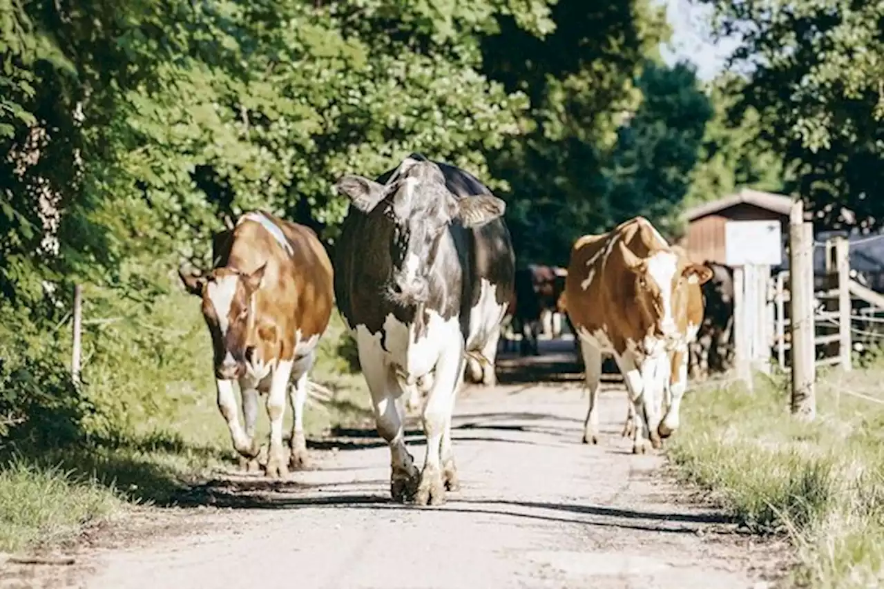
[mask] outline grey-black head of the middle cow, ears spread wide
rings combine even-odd
[[[347,174],[335,185],[353,206],[377,210],[392,221],[391,275],[385,295],[400,305],[426,302],[430,272],[448,226],[478,227],[503,215],[506,204],[492,195],[455,197],[437,164],[406,158],[386,184]]]

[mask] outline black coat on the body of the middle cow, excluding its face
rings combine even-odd
[[[401,173],[397,166],[376,181],[387,185],[416,177],[431,185],[432,180],[439,177],[439,187],[444,180],[447,190],[458,199],[491,195],[474,176],[453,165],[432,162],[420,154],[409,157],[418,163],[435,165],[415,165]],[[432,190],[427,190],[426,185],[422,185],[420,196],[431,198]],[[426,333],[429,310],[435,310],[446,319],[460,314],[461,333],[466,339],[469,315],[479,301],[482,279],[498,287],[499,304],[511,296],[515,258],[506,224],[502,218],[496,218],[484,226],[466,228],[454,219],[438,241],[427,301],[403,306],[388,301],[384,295],[392,276],[391,243],[396,237],[396,224],[389,215],[389,206],[392,203],[378,203],[367,214],[351,206],[347,212],[334,252],[335,296],[340,312],[347,324],[366,325],[370,333],[381,333],[382,343],[386,338],[384,320],[388,314],[404,324],[415,323],[418,336]]]

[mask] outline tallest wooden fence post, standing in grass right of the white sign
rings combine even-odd
[[[816,417],[816,345],[813,326],[813,225],[804,223],[804,203],[789,213],[789,308],[792,333],[792,413]]]

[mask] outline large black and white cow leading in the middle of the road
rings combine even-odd
[[[438,505],[459,487],[451,419],[466,354],[496,345],[513,290],[506,204],[468,172],[420,154],[377,181],[346,175],[336,188],[352,206],[335,248],[335,296],[390,446],[390,492]],[[429,388],[421,473],[400,414],[414,386]]]

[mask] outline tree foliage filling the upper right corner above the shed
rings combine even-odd
[[[700,0],[720,33],[740,31],[735,65],[751,70],[734,115],[758,112],[758,139],[787,164],[820,222],[875,226],[884,217],[880,88],[884,4]],[[841,208],[856,219],[842,218]]]

